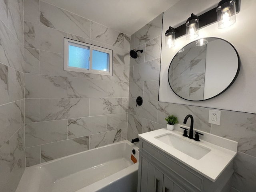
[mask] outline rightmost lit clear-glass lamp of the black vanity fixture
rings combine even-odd
[[[216,9],[218,28],[226,28],[236,22],[236,1],[222,0]]]

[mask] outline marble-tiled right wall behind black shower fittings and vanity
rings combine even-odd
[[[144,52],[135,60],[130,58],[128,140],[166,127],[168,115],[177,116],[182,124],[185,116],[192,114],[194,128],[238,142],[232,192],[255,192],[256,114],[221,110],[218,126],[208,123],[209,108],[158,102],[161,27],[162,15],[131,36],[131,49]],[[137,96],[143,98],[141,106],[136,106]]]

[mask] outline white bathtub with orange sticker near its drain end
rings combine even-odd
[[[26,168],[16,192],[135,192],[138,159],[128,140],[102,146]]]

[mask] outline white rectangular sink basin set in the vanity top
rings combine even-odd
[[[183,139],[170,133],[155,138],[197,160],[211,151],[209,148],[195,144],[188,138]]]

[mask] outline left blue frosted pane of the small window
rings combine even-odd
[[[69,45],[68,66],[89,69],[90,50]]]

